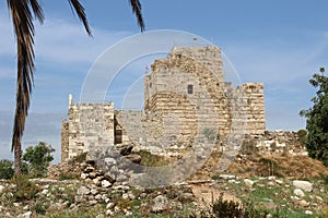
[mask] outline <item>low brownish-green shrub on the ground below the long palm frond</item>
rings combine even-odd
[[[25,201],[35,198],[38,193],[37,186],[28,180],[26,174],[15,174],[10,182],[16,185],[16,192],[13,193],[15,201]]]

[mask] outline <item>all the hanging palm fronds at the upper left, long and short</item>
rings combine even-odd
[[[78,14],[89,36],[92,36],[87,23],[85,10],[79,0],[68,0],[70,7]],[[139,0],[129,0],[132,11],[137,16],[141,32],[144,31],[144,22]],[[45,20],[40,0],[7,0],[8,9],[13,22],[17,46],[17,78],[16,78],[16,108],[12,135],[12,147],[15,160],[15,173],[21,174],[22,146],[21,141],[28,114],[30,97],[34,86],[34,19],[40,23]]]

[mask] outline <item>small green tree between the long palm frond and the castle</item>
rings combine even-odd
[[[50,161],[54,160],[51,153],[55,149],[44,142],[39,142],[36,146],[26,148],[23,160],[28,162],[28,174],[31,178],[45,177]]]

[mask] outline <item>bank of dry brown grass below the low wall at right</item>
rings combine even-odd
[[[243,178],[276,175],[285,179],[319,179],[328,175],[328,168],[307,156],[289,154],[255,155],[243,160],[236,158],[227,170],[218,171],[221,153],[214,152],[206,165],[190,180],[208,179],[219,173],[231,173]]]

